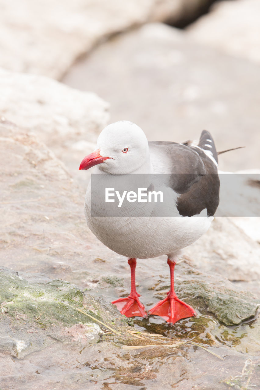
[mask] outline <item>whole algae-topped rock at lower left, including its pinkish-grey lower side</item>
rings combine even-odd
[[[32,283],[17,272],[1,267],[0,286],[0,349],[13,357],[24,358],[55,340],[73,340],[80,349],[89,347],[103,333],[95,319],[109,323],[116,316],[119,326],[120,321],[121,325],[126,323],[114,305],[102,305],[77,286],[59,279],[49,278],[46,282],[38,277]]]

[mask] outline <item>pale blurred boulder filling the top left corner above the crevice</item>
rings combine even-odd
[[[206,4],[211,3],[206,0]],[[83,53],[148,20],[182,20],[205,0],[0,1],[0,66],[61,78]]]

